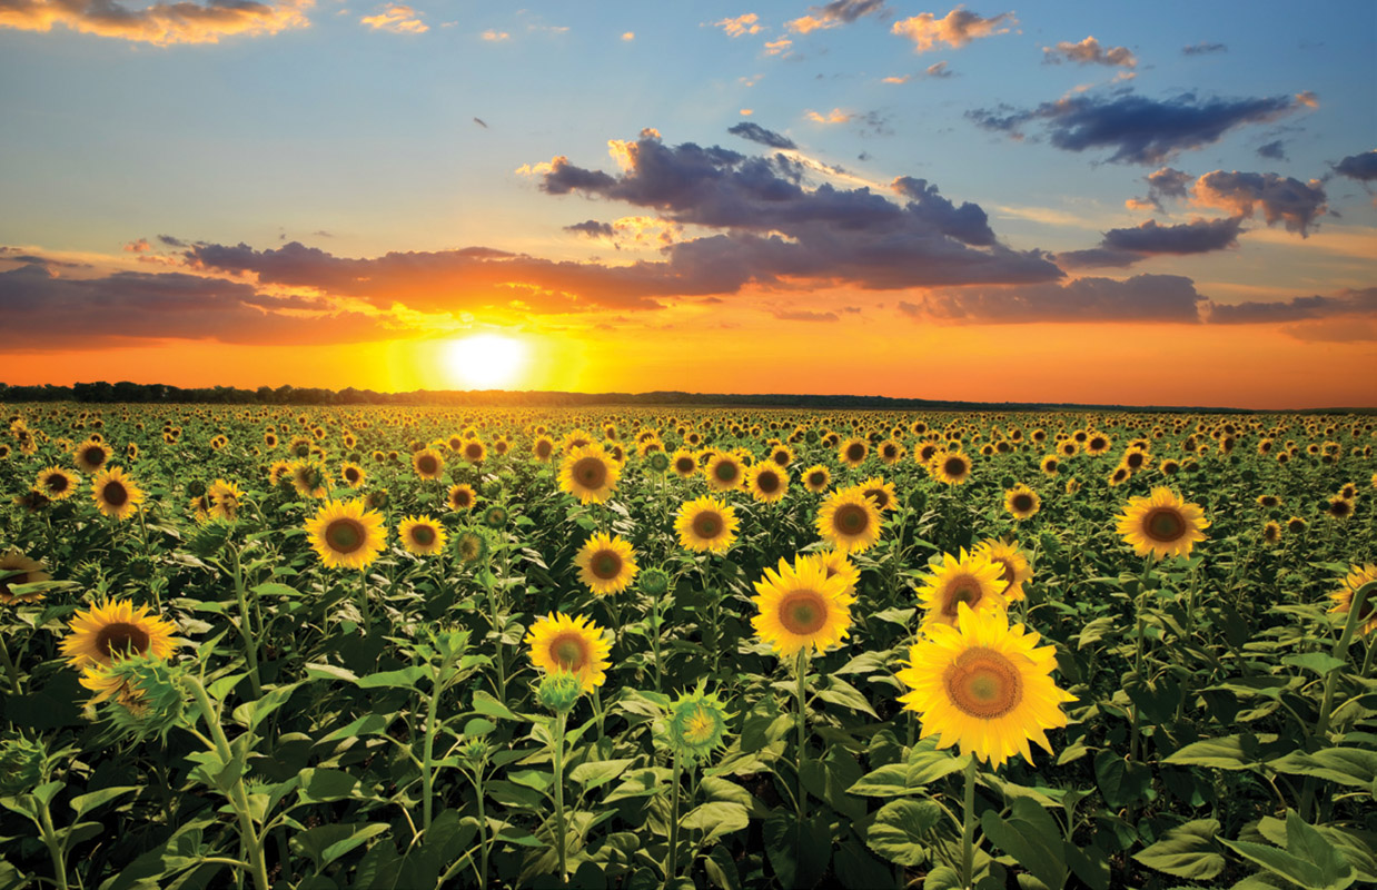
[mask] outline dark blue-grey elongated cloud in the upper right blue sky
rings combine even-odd
[[[1155,101],[1132,92],[1113,96],[1073,95],[1036,109],[967,112],[979,127],[1022,136],[1020,128],[1042,123],[1053,146],[1066,152],[1114,149],[1121,164],[1161,164],[1190,149],[1219,142],[1231,130],[1261,124],[1310,107],[1314,94],[1264,99],[1197,99],[1187,92]]]

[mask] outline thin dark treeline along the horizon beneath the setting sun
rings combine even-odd
[[[738,406],[815,408],[843,411],[1137,411],[1191,413],[1254,413],[1239,408],[1074,405],[1067,402],[968,402],[885,395],[796,395],[724,393],[521,393],[505,390],[459,391],[414,390],[376,393],[373,390],[322,390],[317,387],[260,386],[241,390],[233,386],[182,389],[167,383],[73,383],[72,386],[7,386],[0,383],[0,402],[85,402],[85,404],[175,404],[211,405],[454,405],[463,408],[582,408],[591,405],[646,406]],[[1300,413],[1377,413],[1373,408],[1326,408]]]

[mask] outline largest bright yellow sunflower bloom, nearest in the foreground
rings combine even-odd
[[[1047,730],[1066,726],[1062,704],[1075,700],[1052,679],[1056,648],[1040,641],[1002,610],[961,603],[956,627],[931,627],[909,649],[898,679],[912,692],[899,701],[918,714],[923,738],[939,736],[938,748],[960,744],[996,767],[1016,754],[1031,763],[1029,741],[1051,754]]]

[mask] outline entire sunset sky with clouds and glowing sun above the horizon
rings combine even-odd
[[[1377,405],[1377,4],[0,0],[0,382]]]

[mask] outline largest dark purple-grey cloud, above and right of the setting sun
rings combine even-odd
[[[666,146],[642,134],[617,143],[625,171],[611,176],[556,157],[540,187],[654,208],[680,225],[720,234],[666,248],[671,265],[774,284],[814,278],[862,288],[1051,281],[1062,276],[1041,253],[994,240],[985,212],[956,208],[923,180],[895,204],[870,189],[806,189],[775,158],[717,146]]]

